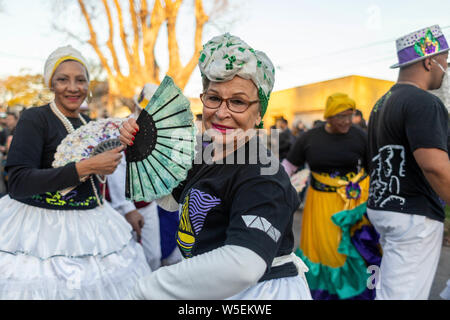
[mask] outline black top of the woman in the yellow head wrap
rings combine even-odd
[[[306,162],[318,173],[345,176],[358,172],[368,167],[367,133],[352,125],[346,134],[331,134],[320,125],[301,135],[286,159],[297,167]]]

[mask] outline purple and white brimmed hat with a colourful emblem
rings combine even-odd
[[[450,50],[439,25],[412,32],[396,40],[398,63],[392,69],[405,67]]]

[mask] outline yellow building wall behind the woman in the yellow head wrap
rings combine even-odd
[[[280,116],[289,121],[289,126],[292,126],[296,115],[301,118],[304,116],[307,122],[312,122],[313,119],[323,120],[326,99],[336,92],[346,93],[354,99],[356,108],[360,109],[368,120],[375,102],[393,84],[392,81],[353,75],[276,91],[270,97],[264,124],[269,128],[275,124],[275,118]]]

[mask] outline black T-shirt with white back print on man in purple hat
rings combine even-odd
[[[441,100],[415,86],[396,84],[375,104],[369,121],[369,208],[444,220],[443,204],[413,152],[447,151],[447,122]]]

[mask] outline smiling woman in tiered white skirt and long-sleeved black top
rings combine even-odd
[[[44,78],[55,99],[22,113],[6,164],[0,299],[122,299],[150,269],[131,227],[102,204],[93,178],[115,170],[122,148],[53,168],[59,143],[90,120],[80,114],[89,73],[67,46],[50,55]],[[58,191],[68,187],[68,194]]]

